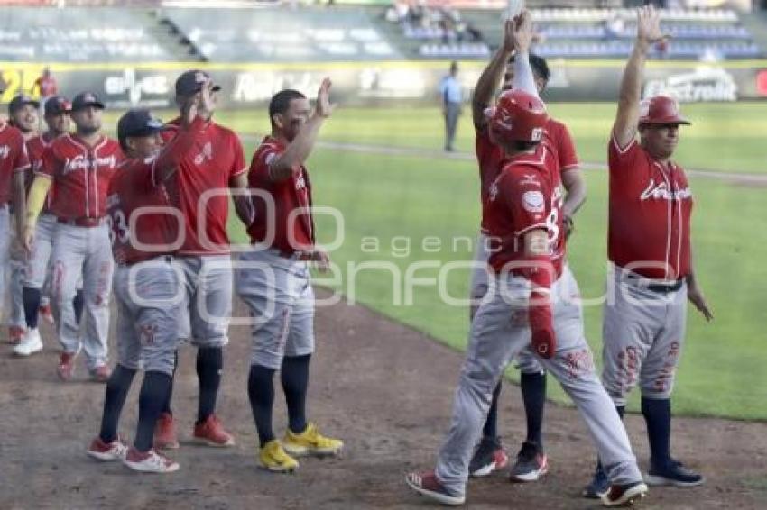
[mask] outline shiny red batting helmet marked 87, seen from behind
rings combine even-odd
[[[519,89],[501,94],[485,115],[494,137],[500,141],[541,141],[549,121],[543,101]]]

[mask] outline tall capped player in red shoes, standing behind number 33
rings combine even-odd
[[[208,74],[189,70],[176,80],[176,103],[180,107],[199,94],[210,80]],[[212,86],[211,92],[221,87]],[[213,122],[214,94],[199,115],[206,123],[202,135],[180,160],[179,171],[166,183],[171,204],[184,215],[183,244],[177,262],[183,269],[185,292],[180,337],[198,347],[199,408],[194,438],[209,446],[233,446],[234,437],[219,421],[216,410],[218,387],[224,366],[223,348],[229,342],[232,313],[232,264],[226,220],[229,188],[245,190],[247,177],[242,144],[231,130]],[[180,119],[171,121],[163,133],[166,141],[175,136]],[[237,214],[248,214],[244,194],[233,196]],[[202,212],[202,214],[199,214]],[[249,219],[249,218],[247,218]],[[155,445],[178,448],[170,397],[158,421]]]

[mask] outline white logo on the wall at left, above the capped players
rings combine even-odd
[[[104,80],[107,106],[125,108],[133,106],[165,107],[171,104],[171,91],[167,76],[148,75],[137,77],[134,68],[125,68],[120,76],[108,76]]]

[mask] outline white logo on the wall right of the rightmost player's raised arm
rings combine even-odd
[[[663,94],[681,103],[737,101],[737,90],[735,78],[725,69],[700,66],[691,73],[649,80],[644,96]]]

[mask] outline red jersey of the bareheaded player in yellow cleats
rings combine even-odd
[[[309,172],[301,165],[289,178],[273,181],[269,165],[285,151],[285,145],[267,136],[253,155],[248,184],[273,198],[273,213],[260,196],[253,196],[254,222],[248,227],[251,241],[270,242],[270,247],[284,253],[308,250],[314,246],[314,218],[311,214]],[[300,211],[300,212],[299,212]]]

